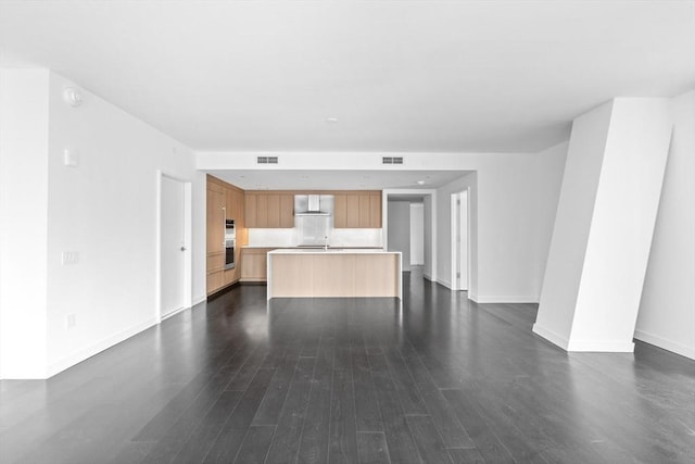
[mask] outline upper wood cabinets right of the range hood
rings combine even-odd
[[[333,227],[381,228],[381,192],[336,192]]]

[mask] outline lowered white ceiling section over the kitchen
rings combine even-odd
[[[466,171],[208,171],[244,190],[432,189],[469,174]],[[422,180],[422,185],[417,181]]]

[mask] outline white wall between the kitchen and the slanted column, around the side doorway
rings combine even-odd
[[[490,154],[438,189],[438,279],[451,287],[451,193],[469,189],[469,297],[538,302],[567,143],[539,153]]]

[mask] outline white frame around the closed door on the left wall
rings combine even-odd
[[[162,179],[166,177],[184,184],[184,306],[179,311],[162,317]],[[156,237],[155,237],[155,276],[154,276],[154,318],[156,323],[192,306],[193,272],[192,272],[192,183],[188,179],[156,170]]]

